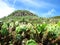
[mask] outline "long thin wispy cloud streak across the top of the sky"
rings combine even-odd
[[[38,7],[38,8],[48,8],[48,7],[54,7],[55,5],[51,3],[47,3],[44,1],[36,1],[36,0],[16,0],[22,2],[24,5],[31,6],[31,7]]]

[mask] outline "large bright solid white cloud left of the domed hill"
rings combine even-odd
[[[14,8],[9,7],[5,2],[0,0],[0,18],[2,18],[4,16],[8,16],[14,10],[15,10]]]

